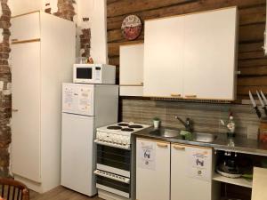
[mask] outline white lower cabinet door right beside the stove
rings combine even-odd
[[[170,199],[170,143],[137,139],[136,199]]]

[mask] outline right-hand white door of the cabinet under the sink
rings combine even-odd
[[[195,168],[191,162],[192,152],[198,155],[209,156],[212,159],[211,148],[194,148],[172,144],[171,147],[171,200],[212,200],[212,162],[203,167]],[[194,153],[193,153],[194,154]],[[201,158],[198,160],[203,162]],[[203,173],[205,180],[198,178]]]

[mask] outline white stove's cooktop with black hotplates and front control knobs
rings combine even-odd
[[[146,124],[117,123],[98,128],[95,143],[113,148],[131,148],[131,134],[150,127]]]

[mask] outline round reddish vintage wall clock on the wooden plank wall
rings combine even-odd
[[[129,15],[123,21],[121,30],[125,39],[134,40],[141,34],[142,22],[136,15]]]

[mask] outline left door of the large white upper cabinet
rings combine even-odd
[[[145,22],[144,96],[182,95],[183,18]]]

